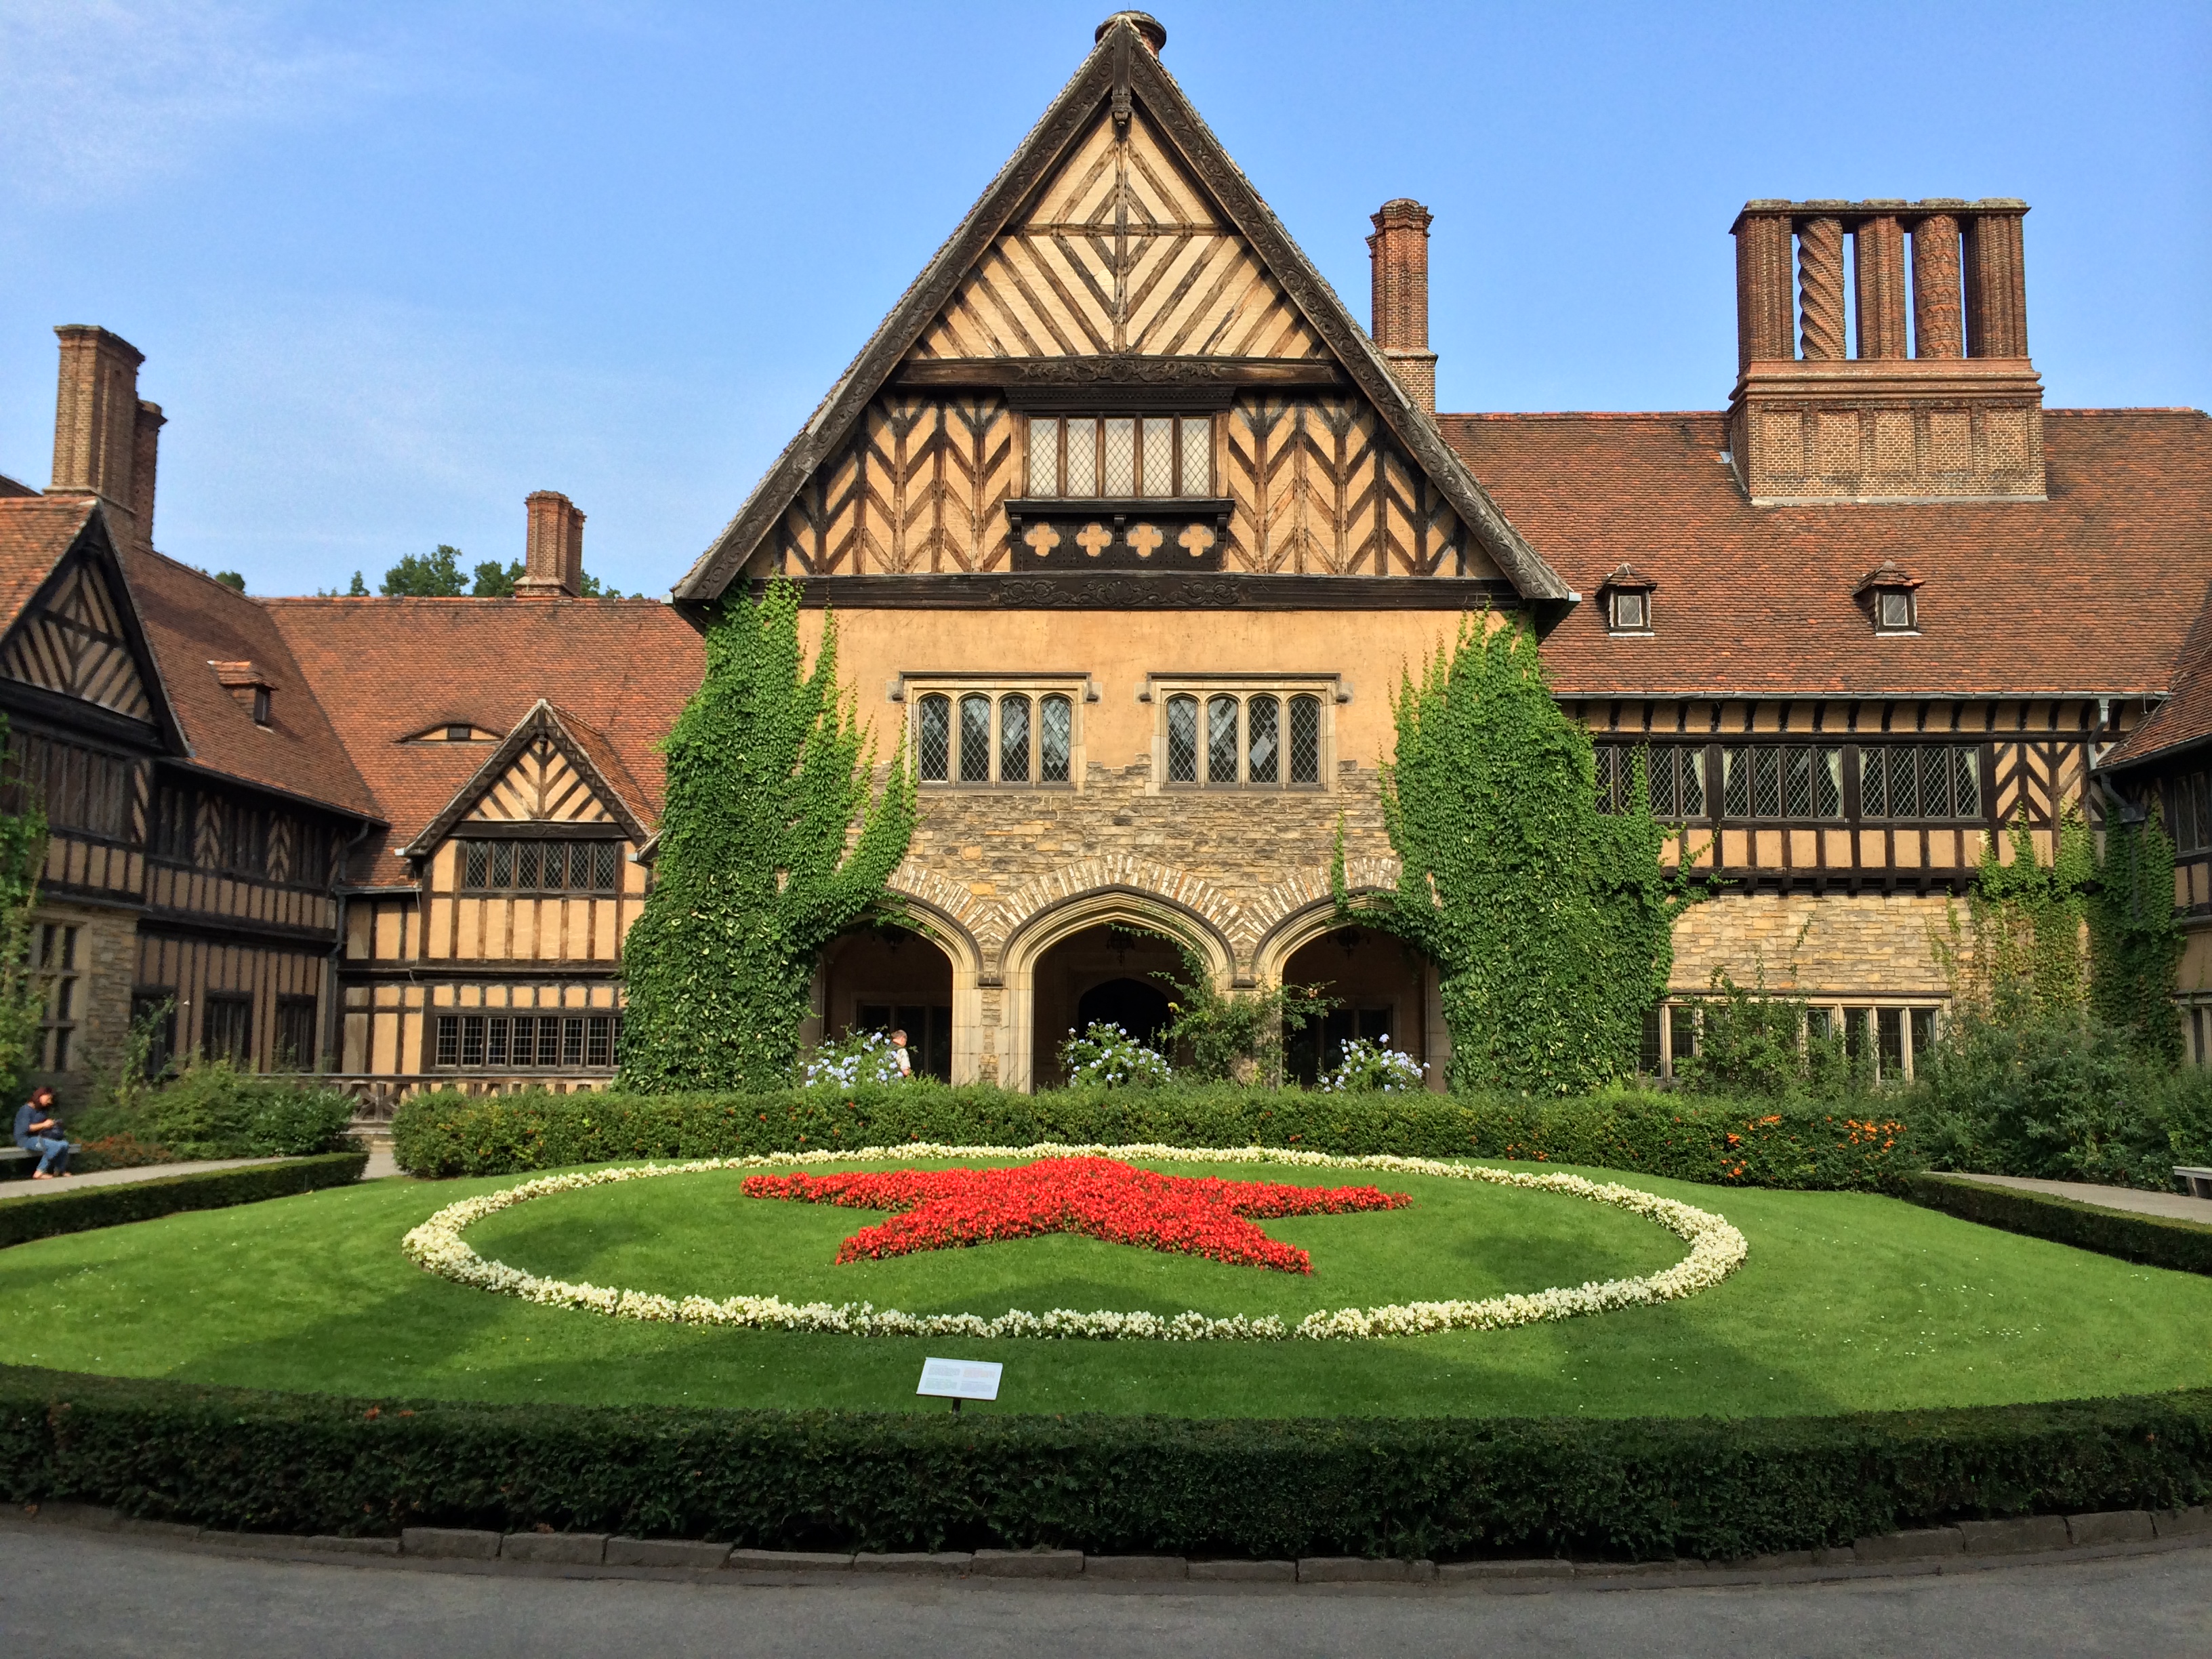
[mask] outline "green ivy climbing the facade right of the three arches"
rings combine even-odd
[[[1551,695],[1531,633],[1471,617],[1394,699],[1383,823],[1398,885],[1340,911],[1427,951],[1455,1088],[1568,1095],[1632,1071],[1644,1015],[1697,898],[1659,867],[1668,830],[1644,768],[1630,810],[1597,810],[1590,734]]]

